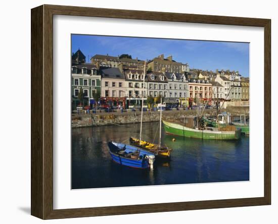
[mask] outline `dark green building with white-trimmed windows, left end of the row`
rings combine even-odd
[[[101,94],[101,76],[96,65],[85,63],[86,57],[78,50],[72,54],[71,66],[71,102],[72,110],[76,110],[77,105],[91,105],[95,103],[94,97]],[[80,102],[79,93],[83,93]]]

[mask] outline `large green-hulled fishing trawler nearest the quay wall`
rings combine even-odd
[[[166,134],[190,138],[234,140],[241,136],[241,129],[235,126],[203,127],[197,117],[184,117],[180,120],[162,120]],[[199,123],[199,124],[198,124]]]

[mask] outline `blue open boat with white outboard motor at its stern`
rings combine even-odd
[[[155,155],[132,145],[108,142],[109,153],[113,161],[133,168],[146,169],[153,167]]]

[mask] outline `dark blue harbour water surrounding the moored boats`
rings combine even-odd
[[[143,124],[142,139],[158,142],[159,122]],[[72,189],[249,180],[249,137],[202,140],[166,135],[170,160],[135,169],[111,160],[107,142],[139,137],[140,123],[72,129]],[[175,141],[172,139],[175,138]]]

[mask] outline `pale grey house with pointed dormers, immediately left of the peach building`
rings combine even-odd
[[[188,106],[189,88],[188,80],[184,73],[166,72],[168,80],[169,100],[176,100],[180,106]]]

